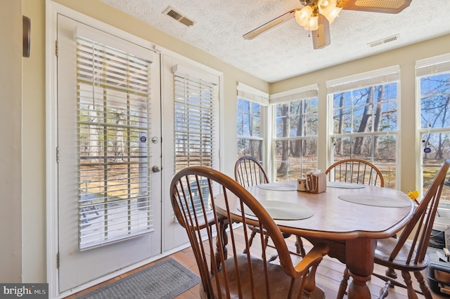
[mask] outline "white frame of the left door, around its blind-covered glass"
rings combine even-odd
[[[77,89],[77,43],[74,36],[79,30],[86,30],[89,34],[103,36],[103,42],[117,43],[121,48],[129,49],[127,53],[139,53],[148,55],[143,57],[152,61],[150,66],[150,122],[146,142],[148,165],[145,170],[146,181],[149,186],[150,208],[145,210],[148,218],[151,218],[151,229],[142,234],[130,234],[128,238],[115,239],[114,241],[101,241],[96,246],[80,250],[79,241],[83,230],[89,229],[91,234],[105,235],[105,223],[109,228],[113,227],[112,218],[115,213],[122,213],[119,208],[114,208],[115,203],[109,201],[89,208],[79,208],[80,199],[80,166],[79,166],[79,105]],[[109,46],[109,45],[106,45]],[[113,47],[113,46],[112,46]],[[122,50],[122,49],[121,49]],[[96,29],[83,25],[75,20],[58,15],[58,250],[59,250],[59,291],[68,291],[86,282],[103,277],[106,274],[139,263],[161,253],[161,172],[153,173],[153,165],[161,166],[161,128],[160,128],[160,62],[159,55],[146,48],[136,46],[115,36],[105,34]],[[153,143],[153,137],[158,142]],[[136,142],[135,142],[136,143]],[[130,143],[128,143],[130,144]],[[134,144],[131,144],[135,146]],[[124,161],[124,164],[127,161]],[[113,166],[111,166],[113,167]],[[140,168],[139,168],[140,169]],[[147,178],[148,177],[148,178]],[[86,185],[87,186],[87,185]],[[127,187],[123,187],[124,190]],[[94,189],[93,189],[94,190]],[[84,190],[81,190],[83,192]],[[86,194],[87,194],[86,190]],[[94,194],[89,192],[89,194]],[[108,194],[108,192],[104,192]],[[97,200],[98,194],[93,195]],[[96,201],[93,201],[94,203]],[[131,202],[131,201],[129,201]],[[139,201],[138,201],[139,202]],[[135,206],[136,199],[134,201]],[[128,227],[133,225],[130,206],[125,206],[125,212],[129,213]],[[86,212],[86,219],[80,219],[81,212]],[[142,209],[136,208],[136,213]],[[134,219],[134,218],[133,218]],[[150,221],[149,221],[150,222]],[[80,228],[81,227],[81,228]],[[127,227],[127,230],[129,228]],[[103,244],[101,244],[103,243]]]

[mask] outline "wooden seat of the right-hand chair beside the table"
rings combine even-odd
[[[411,246],[409,246],[409,244],[407,243],[401,246],[401,249],[395,259],[390,261],[389,256],[396,245],[397,239],[379,239],[377,242],[377,248],[375,248],[375,263],[384,265],[386,267],[394,267],[395,269],[408,272],[424,270],[428,266],[428,255],[425,255],[425,258],[421,263],[413,263],[413,261],[411,261],[410,263],[406,263],[408,255],[411,251]],[[416,251],[414,251],[414,256],[415,253]]]

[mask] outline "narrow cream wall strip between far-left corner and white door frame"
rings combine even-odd
[[[23,281],[45,282],[45,2],[22,2],[31,20],[30,58],[23,58]]]

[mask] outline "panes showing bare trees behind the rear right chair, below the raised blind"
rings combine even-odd
[[[394,188],[397,130],[396,82],[333,94],[333,161],[370,161]]]

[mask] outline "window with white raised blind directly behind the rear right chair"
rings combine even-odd
[[[330,164],[369,161],[383,173],[385,187],[396,187],[398,90],[398,66],[327,82]]]

